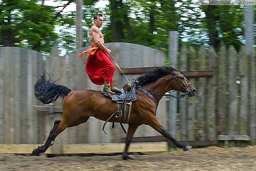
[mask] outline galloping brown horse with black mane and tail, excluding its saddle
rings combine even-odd
[[[137,100],[133,102],[129,119],[128,134],[126,137],[124,160],[131,160],[128,156],[128,147],[134,132],[140,125],[149,125],[171,140],[177,147],[187,151],[191,145],[183,144],[175,140],[169,132],[163,128],[156,117],[157,105],[160,99],[169,90],[183,92],[179,98],[186,94],[195,96],[195,88],[182,74],[170,66],[158,67],[154,71],[144,74],[134,81],[136,85]],[[45,74],[39,77],[35,84],[35,97],[42,103],[52,103],[61,96],[63,101],[63,115],[61,120],[55,120],[52,130],[45,143],[32,151],[33,155],[39,155],[53,144],[55,138],[68,127],[85,123],[89,117],[99,120],[108,118],[117,111],[116,102],[95,90],[70,90],[64,85],[57,85],[55,81],[46,80]],[[123,116],[122,116],[123,117]],[[123,119],[123,118],[122,118]],[[108,122],[119,122],[118,118],[111,117]]]

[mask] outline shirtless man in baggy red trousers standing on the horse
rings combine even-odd
[[[115,68],[111,59],[108,57],[108,55],[111,55],[111,50],[104,46],[104,37],[99,29],[103,24],[102,14],[94,15],[93,22],[93,26],[89,31],[89,40],[92,48],[79,54],[80,59],[84,52],[89,53],[85,64],[85,71],[94,84],[104,84],[104,92],[109,94],[122,92],[118,88],[112,87]]]

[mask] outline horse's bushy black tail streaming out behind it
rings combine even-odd
[[[64,100],[71,90],[64,85],[55,84],[55,81],[51,80],[50,77],[47,80],[45,74],[46,72],[35,83],[35,98],[44,104],[55,102],[59,96]]]

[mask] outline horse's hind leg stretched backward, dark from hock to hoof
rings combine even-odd
[[[44,153],[45,151],[47,151],[49,146],[53,145],[53,141],[55,140],[57,135],[64,131],[66,128],[67,126],[65,126],[65,124],[63,124],[61,120],[55,120],[53,128],[50,131],[47,140],[44,142],[43,145],[38,146],[38,148],[34,149],[32,151],[32,154],[38,156],[39,153]]]

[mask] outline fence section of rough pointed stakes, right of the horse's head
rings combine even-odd
[[[218,135],[249,135],[256,143],[256,56],[242,47],[181,47],[180,71],[214,71],[212,77],[189,78],[195,97],[179,102],[180,140],[215,140]]]

